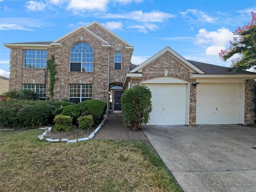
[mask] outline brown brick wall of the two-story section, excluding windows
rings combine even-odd
[[[122,84],[127,72],[130,68],[130,51],[125,50],[125,44],[120,42],[111,34],[99,26],[93,26],[92,30],[95,34],[112,44],[110,50],[109,83],[119,82]],[[82,41],[81,41],[82,37]],[[92,46],[94,51],[94,69],[93,72],[70,72],[70,50],[78,42],[86,42]],[[30,49],[30,48],[29,48]],[[41,48],[37,48],[41,49]],[[44,48],[42,48],[44,49]],[[114,54],[115,52],[122,54],[121,70],[114,70]],[[96,39],[92,34],[85,30],[80,30],[73,36],[62,41],[62,47],[48,48],[47,60],[51,55],[55,57],[57,74],[56,83],[54,84],[54,100],[68,99],[69,84],[93,84],[93,99],[107,101],[108,94],[108,48],[102,48],[102,42]],[[50,86],[50,78],[47,69],[40,68],[23,68],[23,49],[11,48],[10,53],[10,90],[21,90],[22,84],[46,84],[46,98],[50,97],[48,88]]]

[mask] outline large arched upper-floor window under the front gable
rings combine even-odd
[[[80,42],[72,47],[70,71],[93,72],[93,50],[88,43]]]

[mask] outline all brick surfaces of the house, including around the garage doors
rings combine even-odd
[[[36,47],[28,46],[11,46],[10,47],[10,90],[21,90],[22,84],[46,84],[46,98],[50,98],[48,88],[50,86],[50,77],[48,69],[41,68],[23,68],[23,51],[24,49],[44,49],[47,50],[47,59],[51,55],[55,57],[55,64],[57,74],[56,83],[54,84],[54,100],[67,100],[69,98],[69,84],[92,84],[93,85],[93,99],[104,100],[107,102],[108,98],[108,64],[109,64],[109,84],[119,83],[123,84],[126,74],[130,71],[130,58],[132,51],[128,43],[115,36],[109,30],[106,30],[100,24],[89,25],[88,30],[80,28],[73,34],[64,36],[59,43],[60,46],[42,46]],[[92,32],[92,33],[91,33]],[[110,46],[102,46],[102,40],[105,40]],[[70,50],[72,47],[79,43],[86,42],[90,44],[94,52],[93,72],[70,72]],[[116,52],[122,54],[122,67],[121,70],[114,70],[114,54]],[[140,82],[152,80],[155,78],[166,77],[164,71],[168,70],[167,77],[175,78],[185,81],[189,84],[190,93],[188,94],[189,100],[189,125],[196,125],[196,87],[192,85],[196,79],[190,79],[191,67],[188,67],[186,62],[182,59],[177,59],[176,53],[165,52],[155,60],[146,64],[139,71],[142,77],[131,76],[128,79],[130,88],[140,85]],[[35,82],[33,82],[33,80]],[[82,83],[80,83],[82,81]],[[244,111],[244,124],[253,123],[255,114],[252,111],[255,98],[252,92],[254,80],[245,82],[245,111]],[[128,83],[126,82],[128,86]],[[128,87],[126,87],[127,89]]]

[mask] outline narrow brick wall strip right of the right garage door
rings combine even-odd
[[[255,98],[255,93],[252,91],[254,88],[254,80],[248,80],[245,82],[245,93],[244,93],[244,124],[254,123],[255,113],[253,112],[254,109],[254,102],[253,99]]]

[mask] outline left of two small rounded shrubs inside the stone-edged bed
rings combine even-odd
[[[68,131],[72,128],[72,117],[67,115],[56,115],[54,118],[54,130]]]

